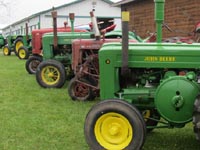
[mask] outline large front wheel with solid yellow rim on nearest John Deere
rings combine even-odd
[[[128,102],[111,99],[93,106],[84,126],[91,149],[140,150],[146,127],[141,113]]]

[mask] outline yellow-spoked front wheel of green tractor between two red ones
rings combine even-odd
[[[66,80],[65,67],[56,60],[42,61],[36,70],[36,80],[44,88],[61,88]]]

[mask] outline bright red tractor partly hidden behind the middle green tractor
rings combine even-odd
[[[42,62],[43,58],[43,47],[42,47],[42,36],[45,33],[51,33],[54,31],[54,29],[57,30],[57,32],[87,32],[84,29],[77,29],[73,27],[73,18],[70,18],[71,25],[67,26],[67,22],[64,23],[64,27],[57,27],[57,12],[52,12],[52,18],[53,18],[53,28],[45,28],[45,29],[37,29],[32,31],[32,51],[31,56],[27,59],[25,68],[29,74],[35,74],[36,69],[38,65]],[[45,51],[45,50],[44,50]],[[44,56],[45,57],[45,56]]]

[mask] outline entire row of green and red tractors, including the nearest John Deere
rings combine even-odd
[[[122,12],[122,31],[115,25],[99,30],[90,12],[88,31],[74,28],[73,13],[71,27],[57,27],[53,11],[53,28],[0,37],[0,46],[4,55],[13,50],[27,58],[25,68],[41,87],[61,88],[68,79],[71,99],[103,100],[85,120],[91,149],[140,150],[154,128],[181,128],[191,121],[200,140],[200,44],[193,39],[199,39],[200,23],[192,37],[164,39],[163,28],[173,32],[164,23],[165,0],[154,2],[156,32],[146,39],[128,31],[128,12]]]

